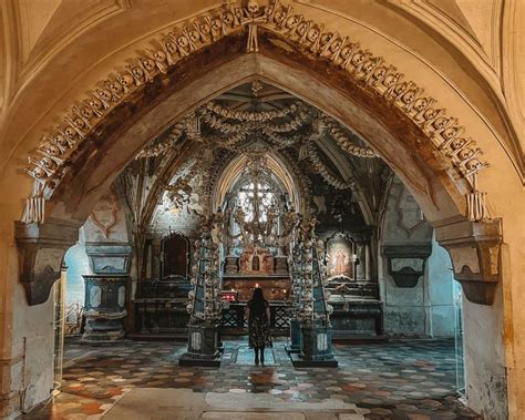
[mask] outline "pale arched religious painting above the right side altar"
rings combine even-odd
[[[327,268],[329,279],[354,278],[354,244],[347,235],[337,233],[327,240]]]

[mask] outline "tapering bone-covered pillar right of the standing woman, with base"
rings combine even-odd
[[[337,367],[332,352],[332,337],[326,286],[325,244],[316,238],[316,219],[303,225],[302,246],[302,297],[298,318],[301,326],[301,351],[290,352],[291,362],[297,367]]]

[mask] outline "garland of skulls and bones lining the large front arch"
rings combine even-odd
[[[247,53],[257,53],[257,29],[275,32],[297,44],[306,54],[329,61],[346,70],[361,89],[393,104],[414,122],[435,147],[436,154],[447,166],[457,171],[472,188],[467,195],[467,216],[473,221],[487,217],[484,193],[476,191],[477,173],[487,167],[478,156],[482,151],[475,141],[463,137],[464,126],[447,116],[436,101],[423,95],[423,89],[413,81],[404,80],[393,65],[383,58],[374,57],[359,42],[338,32],[325,30],[325,24],[295,13],[291,6],[272,1],[264,8],[224,6],[194,18],[189,23],[177,25],[161,39],[152,39],[152,49],[126,61],[125,71],[100,81],[91,94],[62,115],[55,130],[43,135],[38,155],[29,157],[27,168],[35,182],[34,194],[27,199],[23,222],[43,222],[43,199],[50,199],[63,178],[76,147],[104,120],[104,116],[126,98],[147,85],[161,73],[184,60],[195,51],[219,39],[247,28]]]

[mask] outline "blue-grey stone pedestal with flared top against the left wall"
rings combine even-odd
[[[126,286],[133,248],[121,243],[86,243],[94,275],[84,275],[85,329],[83,342],[112,342],[124,337]]]

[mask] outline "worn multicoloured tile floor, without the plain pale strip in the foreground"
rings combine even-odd
[[[338,399],[368,409],[370,419],[472,419],[455,392],[454,345],[413,340],[336,345],[339,368],[295,369],[277,341],[267,365],[253,365],[244,338],[225,341],[220,368],[179,367],[184,342],[66,342],[61,392],[25,419],[99,419],[133,388],[187,388],[225,395],[268,393],[282,401]],[[130,419],[131,420],[131,419]]]

